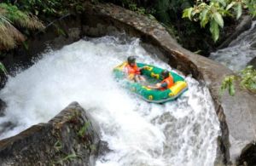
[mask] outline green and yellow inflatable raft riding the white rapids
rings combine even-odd
[[[121,65],[116,66],[113,69],[114,77],[117,80],[122,80],[122,84],[125,85],[125,88],[135,92],[142,97],[143,100],[147,100],[148,102],[164,103],[166,101],[175,100],[188,89],[188,84],[184,81],[184,78],[174,72],[170,72],[174,81],[174,85],[170,89],[149,89],[148,87],[143,86],[141,83],[131,82],[130,80],[126,79],[125,73],[123,72],[126,65],[127,62],[124,62]],[[162,80],[160,73],[163,71],[163,69],[143,63],[137,63],[137,66],[146,66],[145,69],[142,70],[143,76],[148,77],[151,82],[153,80],[152,83],[159,83]]]

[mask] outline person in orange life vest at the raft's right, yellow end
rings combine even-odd
[[[170,89],[174,83],[173,83],[173,77],[167,70],[163,70],[161,72],[161,76],[163,77],[163,81],[160,83],[156,83],[153,86],[148,86],[149,89],[160,89],[160,90],[166,90]]]

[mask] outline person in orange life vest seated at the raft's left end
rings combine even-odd
[[[145,78],[141,75],[141,70],[145,67],[138,67],[136,64],[136,58],[134,56],[129,56],[127,58],[127,65],[124,70],[127,74],[128,79],[133,80],[135,82],[145,82]]]

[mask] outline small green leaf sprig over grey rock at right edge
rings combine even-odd
[[[224,81],[221,85],[221,94],[224,93],[226,89],[229,90],[229,94],[235,95],[235,86],[234,81],[237,80],[240,82],[240,85],[243,89],[247,89],[253,93],[256,93],[256,70],[253,69],[253,66],[247,66],[237,76],[231,75],[224,78]]]

